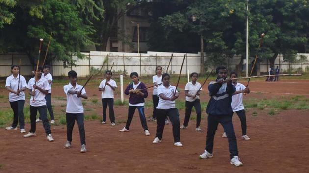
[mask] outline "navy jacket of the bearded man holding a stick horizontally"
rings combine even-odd
[[[218,79],[216,80],[218,81]],[[227,83],[219,84],[210,82],[208,85],[210,100],[206,112],[208,115],[232,115],[231,107],[232,94],[235,93],[235,86]]]

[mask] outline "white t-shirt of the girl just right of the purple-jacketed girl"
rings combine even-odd
[[[176,87],[170,85],[168,88],[166,88],[165,86],[161,85],[158,87],[158,96],[160,94],[163,94],[165,97],[169,97],[171,98],[174,95]],[[178,93],[178,91],[176,90],[176,92]],[[171,101],[171,100],[164,100],[159,96],[159,104],[156,107],[158,109],[170,109],[170,108],[176,108],[175,107],[175,101]]]

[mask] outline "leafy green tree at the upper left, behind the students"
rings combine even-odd
[[[0,45],[6,51],[26,52],[35,65],[39,39],[43,38],[43,53],[53,32],[49,53],[51,60],[60,60],[64,66],[75,65],[72,56],[83,58],[80,51],[93,44],[90,34],[93,27],[83,23],[75,5],[62,0],[19,1],[12,10],[15,20],[2,28]],[[5,42],[5,44],[4,44]],[[41,60],[43,61],[43,60]]]

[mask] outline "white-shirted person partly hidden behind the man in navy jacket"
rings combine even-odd
[[[240,119],[241,130],[242,130],[241,139],[250,140],[250,137],[247,136],[246,112],[245,112],[244,105],[242,103],[243,93],[249,94],[250,89],[249,87],[246,87],[241,83],[238,83],[237,80],[233,80],[237,77],[238,77],[237,73],[232,71],[230,74],[230,78],[232,80],[232,84],[236,88],[235,93],[232,95],[232,103],[231,103],[231,107],[233,109],[232,116],[234,112],[236,112]],[[226,132],[223,133],[222,137],[227,137]]]

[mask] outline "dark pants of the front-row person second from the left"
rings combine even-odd
[[[37,114],[38,110],[39,110],[40,117],[42,119],[42,123],[43,123],[45,133],[51,134],[52,133],[51,127],[50,127],[50,123],[48,122],[48,119],[47,119],[47,108],[46,108],[45,105],[39,106],[39,107],[34,107],[34,106],[30,105],[30,121],[31,121],[30,132],[35,133],[35,130],[36,130],[35,119],[36,119],[36,114]]]

